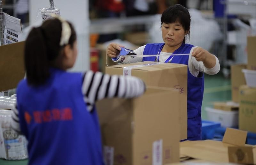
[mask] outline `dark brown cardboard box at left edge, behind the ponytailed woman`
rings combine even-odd
[[[24,42],[0,46],[0,92],[16,88],[25,76]]]

